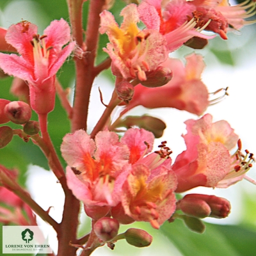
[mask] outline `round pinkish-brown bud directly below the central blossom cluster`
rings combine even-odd
[[[93,230],[99,239],[102,241],[111,241],[117,236],[119,229],[119,222],[116,219],[104,217],[94,224]]]

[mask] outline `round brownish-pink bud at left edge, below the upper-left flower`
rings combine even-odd
[[[31,108],[23,101],[12,101],[4,108],[4,113],[14,124],[26,124],[31,118]]]

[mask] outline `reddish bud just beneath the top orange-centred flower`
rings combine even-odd
[[[154,71],[146,72],[147,80],[140,81],[146,87],[160,87],[167,84],[173,77],[170,68],[159,66]]]

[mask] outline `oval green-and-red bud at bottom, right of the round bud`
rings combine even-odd
[[[124,233],[127,243],[136,247],[146,247],[152,243],[153,237],[145,230],[129,228]]]

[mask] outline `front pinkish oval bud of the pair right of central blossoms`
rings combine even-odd
[[[183,198],[179,207],[186,215],[196,218],[206,218],[211,214],[211,207],[204,200],[196,198]]]

